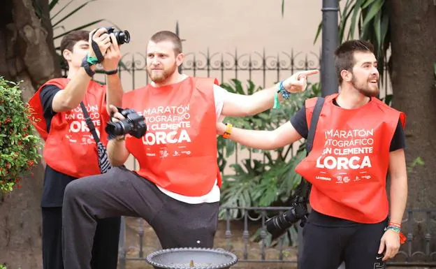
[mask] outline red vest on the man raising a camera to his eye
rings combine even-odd
[[[45,140],[43,157],[54,170],[72,177],[85,177],[100,173],[97,148],[92,134],[89,132],[80,106],[66,112],[58,112],[52,117],[50,132],[43,115],[40,92],[45,85],[55,85],[65,89],[68,79],[56,78],[45,82],[38,92],[29,100],[32,108],[31,120],[36,130]],[[89,82],[83,103],[87,107],[101,142],[107,144],[107,134],[104,131],[109,120],[106,111],[106,86]]]

